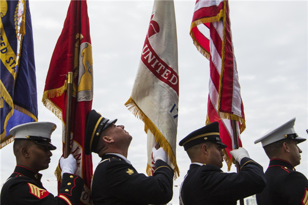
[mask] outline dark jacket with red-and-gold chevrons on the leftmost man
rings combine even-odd
[[[84,181],[81,177],[64,173],[59,195],[54,197],[41,182],[42,175],[24,166],[16,166],[14,173],[1,190],[2,205],[78,204]]]

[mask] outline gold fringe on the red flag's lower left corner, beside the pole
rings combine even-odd
[[[62,109],[60,109],[60,107],[56,106],[50,100],[50,98],[55,98],[55,97],[59,97],[59,96],[63,95],[63,93],[66,89],[67,89],[67,80],[65,80],[64,85],[60,88],[55,88],[55,89],[44,91],[43,98],[42,98],[42,102],[43,102],[44,106],[47,109],[49,109],[50,111],[52,111],[52,113],[57,118],[59,118],[60,120],[62,120]]]

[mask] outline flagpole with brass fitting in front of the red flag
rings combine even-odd
[[[66,90],[66,116],[65,116],[65,146],[64,158],[70,154],[70,119],[71,119],[71,101],[72,101],[72,85],[73,85],[73,72],[68,72],[67,76],[67,90]]]

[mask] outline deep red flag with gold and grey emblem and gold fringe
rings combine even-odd
[[[51,57],[42,101],[63,122],[63,151],[65,130],[70,127],[70,153],[77,161],[76,174],[85,181],[81,204],[91,203],[92,156],[85,155],[84,135],[93,99],[92,64],[87,2],[71,1]],[[70,109],[67,106],[69,84],[72,93]],[[68,113],[71,113],[71,118],[67,124]],[[59,167],[56,175],[61,178]]]

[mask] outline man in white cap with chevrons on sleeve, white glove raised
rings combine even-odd
[[[16,167],[1,190],[1,204],[78,204],[84,181],[74,175],[76,160],[72,155],[60,159],[62,182],[59,194],[53,196],[41,182],[41,170],[49,167],[51,150],[56,147],[50,142],[56,125],[51,122],[30,122],[17,125],[10,130],[15,136],[13,152]]]

